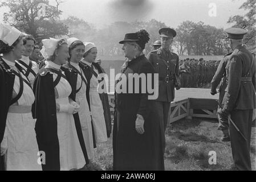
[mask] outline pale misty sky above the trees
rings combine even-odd
[[[167,26],[177,28],[185,20],[202,21],[217,28],[227,28],[227,20],[233,15],[243,15],[246,12],[238,8],[246,0],[63,0],[60,10],[61,18],[69,15],[77,16],[103,28],[116,21],[131,22],[134,20],[156,19]],[[55,1],[50,0],[54,5]],[[217,16],[210,17],[209,4],[215,3]],[[6,9],[0,9],[0,22]]]

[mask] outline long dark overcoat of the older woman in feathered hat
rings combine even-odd
[[[152,64],[142,55],[129,61],[123,73],[128,78],[128,73],[140,75],[141,73],[155,73],[155,71]],[[151,81],[153,82],[153,80]],[[134,82],[133,93],[128,93],[127,79],[121,82],[127,84],[127,93],[115,93],[113,169],[164,170],[160,118],[156,111],[155,100],[148,99],[148,92],[141,92],[141,81],[139,93],[134,93]],[[118,84],[119,82],[117,82],[116,87]],[[142,115],[145,121],[145,132],[142,135],[137,133],[135,129],[137,114]]]

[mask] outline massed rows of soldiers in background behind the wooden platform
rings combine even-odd
[[[220,61],[204,59],[180,60],[180,81],[182,88],[202,88],[210,84]]]

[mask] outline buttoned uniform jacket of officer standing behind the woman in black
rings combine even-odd
[[[172,102],[174,100],[174,72],[178,77],[178,55],[170,51],[165,53],[162,48],[159,48],[149,52],[147,58],[155,71],[159,73],[159,97],[156,101]]]

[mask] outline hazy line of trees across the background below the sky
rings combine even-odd
[[[108,27],[97,30],[93,24],[69,16],[60,19],[63,11],[59,9],[60,0],[55,0],[56,5],[49,5],[47,0],[7,0],[0,1],[0,7],[7,7],[8,13],[3,14],[6,23],[17,27],[19,30],[31,34],[40,43],[45,38],[62,38],[63,36],[76,37],[84,42],[94,42],[100,55],[122,55],[123,51],[119,41],[124,34],[135,32],[144,28],[151,35],[150,42],[146,45],[147,52],[151,51],[152,44],[159,37],[159,29],[167,27],[165,23],[156,19],[147,22],[115,22]],[[255,51],[255,2],[247,0],[240,9],[248,11],[244,16],[230,17],[227,23],[236,27],[245,28],[249,33],[245,36],[245,43],[251,51]],[[224,55],[230,52],[225,40],[222,28],[216,28],[204,24],[204,22],[182,22],[177,28],[177,36],[174,38],[173,51],[179,55]]]

